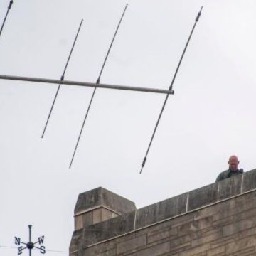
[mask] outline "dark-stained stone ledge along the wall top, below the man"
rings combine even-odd
[[[73,242],[78,237],[81,240],[77,242],[85,249],[254,190],[256,169],[76,230],[70,252],[72,248],[75,249]],[[78,248],[77,242],[75,243]]]

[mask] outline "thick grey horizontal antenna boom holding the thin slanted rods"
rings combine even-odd
[[[98,87],[98,88],[103,88],[103,89],[129,90],[129,91],[135,91],[135,92],[153,92],[153,93],[161,93],[161,94],[167,94],[167,93],[174,94],[174,91],[155,89],[155,88],[149,88],[149,87],[135,87],[135,86],[107,85],[107,84],[97,85],[94,82],[78,82],[78,81],[70,81],[70,80],[61,81],[61,80],[56,80],[56,79],[28,78],[28,77],[14,76],[14,75],[0,75],[0,79],[26,81],[26,82],[43,82],[43,83],[53,83],[53,84],[59,84],[61,82],[61,85]]]

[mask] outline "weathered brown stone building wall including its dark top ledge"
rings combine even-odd
[[[127,202],[131,210],[75,230],[70,256],[256,255],[256,169],[139,210]]]

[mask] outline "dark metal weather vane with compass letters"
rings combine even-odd
[[[31,228],[32,225],[28,225],[28,229],[29,229],[29,241],[28,242],[21,242],[21,238],[17,238],[15,237],[15,244],[16,245],[21,245],[20,247],[18,247],[18,255],[21,255],[23,250],[28,249],[29,250],[29,256],[31,256],[31,251],[33,248],[36,248],[38,250],[40,250],[40,252],[42,254],[46,253],[46,247],[43,246],[43,240],[44,240],[44,235],[42,235],[40,238],[38,238],[38,240],[36,242],[32,242],[31,241]],[[40,247],[36,247],[36,244],[38,243],[38,245],[41,245]],[[24,246],[26,245],[26,246]]]

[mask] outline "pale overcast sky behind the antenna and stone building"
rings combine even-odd
[[[65,79],[95,82],[127,2],[101,82],[161,89],[204,6],[143,173],[164,95],[98,89],[68,169],[92,88],[62,86],[41,139],[58,85],[0,80],[0,245],[32,224],[46,249],[68,251],[78,193],[98,186],[140,208],[213,183],[231,154],[256,167],[255,0],[14,0],[0,74],[59,79],[84,18]]]

